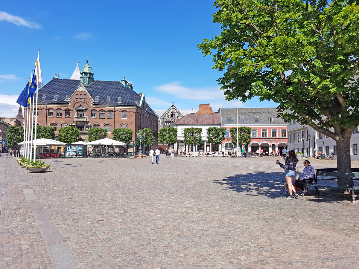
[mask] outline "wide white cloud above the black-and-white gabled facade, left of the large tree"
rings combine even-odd
[[[219,86],[204,87],[204,88],[187,88],[181,85],[181,82],[169,82],[164,85],[155,87],[157,91],[162,93],[175,95],[181,99],[192,100],[223,100],[224,91],[219,89]]]

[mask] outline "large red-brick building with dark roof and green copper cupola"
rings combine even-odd
[[[107,129],[109,138],[113,138],[114,128],[129,128],[133,131],[132,140],[138,129],[150,128],[157,143],[158,116],[145,95],[136,93],[125,78],[94,80],[88,61],[80,72],[76,67],[71,79],[58,79],[55,75],[39,89],[37,113],[39,125],[53,126],[56,131],[67,126],[78,128],[84,141],[89,128]]]

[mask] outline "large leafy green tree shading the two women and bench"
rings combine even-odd
[[[278,103],[333,138],[339,172],[351,172],[350,137],[359,124],[359,7],[355,0],[217,0],[220,36],[199,49],[213,54],[227,100]],[[339,179],[340,185],[353,181]]]

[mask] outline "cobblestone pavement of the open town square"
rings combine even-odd
[[[0,268],[359,268],[359,201],[285,199],[276,159],[2,158]]]

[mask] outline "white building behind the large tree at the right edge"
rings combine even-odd
[[[334,131],[334,130],[331,130]],[[310,139],[309,139],[310,137]],[[356,127],[350,139],[350,158],[358,161],[359,128]],[[301,151],[304,156],[314,156],[318,151],[328,155],[333,151],[336,154],[336,142],[322,133],[315,131],[308,125],[299,122],[288,122],[288,149]]]

